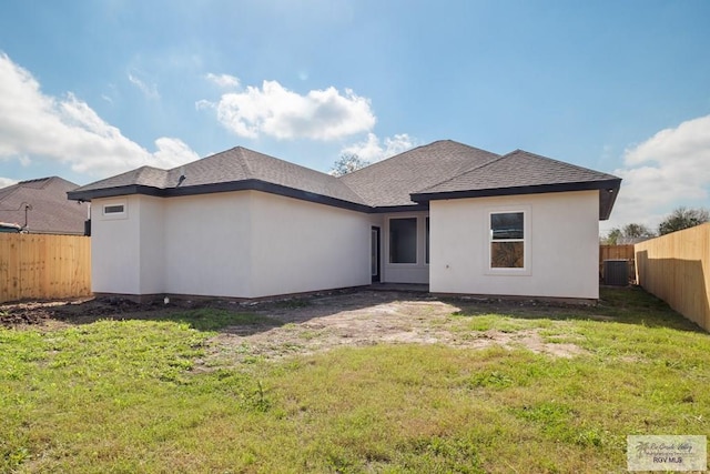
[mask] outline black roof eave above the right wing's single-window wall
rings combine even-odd
[[[621,179],[615,178],[600,181],[584,181],[575,183],[539,184],[515,188],[491,188],[484,190],[462,190],[444,192],[419,192],[410,194],[412,201],[425,203],[429,201],[465,199],[465,198],[491,198],[499,195],[541,194],[551,192],[594,191],[599,190],[599,220],[606,221],[611,214],[611,209],[621,186]]]

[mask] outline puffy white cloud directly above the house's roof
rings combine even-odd
[[[214,108],[227,130],[251,139],[336,140],[369,131],[376,121],[369,100],[349,89],[342,94],[331,87],[300,95],[276,81],[223,94],[217,103],[199,101],[195,105]]]

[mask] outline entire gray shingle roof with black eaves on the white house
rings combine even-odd
[[[498,155],[450,140],[418,147],[334,178],[241,147],[172,170],[143,167],[69,193],[91,200],[124,194],[173,196],[258,190],[364,212],[426,209],[436,199],[602,190],[608,219],[621,180],[516,150]]]

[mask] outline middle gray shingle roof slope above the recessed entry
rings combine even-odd
[[[373,206],[415,204],[410,194],[499,158],[452,140],[405,151],[341,178]]]

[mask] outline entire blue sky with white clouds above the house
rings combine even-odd
[[[4,2],[0,184],[452,139],[617,174],[602,231],[655,226],[710,206],[709,22],[706,0]]]

